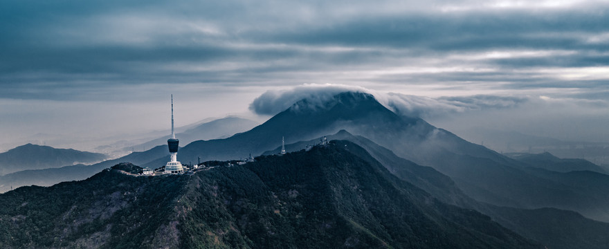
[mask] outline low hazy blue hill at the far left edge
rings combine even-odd
[[[96,163],[106,158],[107,156],[104,154],[27,144],[0,153],[0,175],[25,169],[46,169],[78,163]]]

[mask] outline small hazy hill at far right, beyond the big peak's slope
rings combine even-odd
[[[588,160],[583,159],[570,159],[570,158],[557,158],[556,156],[549,154],[549,152],[544,152],[541,154],[525,154],[525,153],[511,153],[507,154],[507,156],[514,158],[516,160],[520,160],[521,162],[528,163],[532,167],[539,167],[542,169],[552,170],[555,172],[572,172],[572,171],[581,171],[581,170],[589,170],[592,172],[599,172],[603,174],[607,174],[606,170],[600,167],[599,165],[595,165],[594,163],[590,163]]]

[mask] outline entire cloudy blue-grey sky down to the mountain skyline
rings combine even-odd
[[[170,94],[178,126],[262,122],[278,108],[256,103],[302,89],[363,89],[448,130],[609,142],[607,24],[609,1],[5,0],[0,151],[166,131]]]

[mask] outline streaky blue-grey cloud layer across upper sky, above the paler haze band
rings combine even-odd
[[[311,82],[426,95],[609,97],[606,1],[1,5],[0,98],[113,98],[147,84]],[[89,95],[99,90],[108,94]]]

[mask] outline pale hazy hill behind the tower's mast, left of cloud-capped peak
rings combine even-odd
[[[245,118],[226,117],[199,124],[184,132],[177,133],[176,137],[180,139],[180,144],[184,146],[196,140],[228,138],[236,133],[248,131],[256,125],[258,125],[257,122]],[[152,148],[158,145],[166,145],[167,138],[169,138],[169,134],[140,145],[134,145],[133,147]],[[131,149],[131,147],[128,147],[127,149]]]

